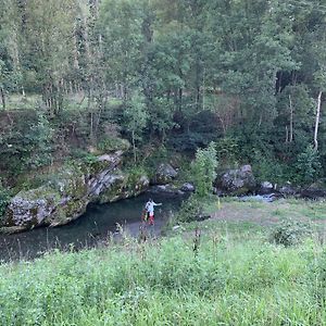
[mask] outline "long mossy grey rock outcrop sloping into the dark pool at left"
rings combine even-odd
[[[8,206],[3,226],[22,230],[63,225],[79,217],[90,202],[114,202],[145,191],[149,178],[120,171],[122,154],[117,151],[88,166],[65,168],[55,181],[18,192]]]

